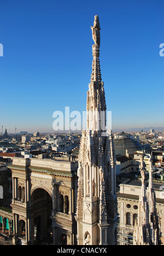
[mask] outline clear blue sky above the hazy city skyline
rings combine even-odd
[[[163,0],[1,0],[0,128],[52,131],[52,113],[82,113],[94,16],[113,129],[164,126]]]

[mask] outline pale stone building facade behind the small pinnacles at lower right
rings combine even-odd
[[[154,219],[150,216],[156,216],[157,223],[154,226],[158,226],[158,235],[161,235],[161,242],[163,243],[164,237],[164,199],[162,194],[162,182],[154,182],[153,183],[153,190],[152,189],[152,179],[150,176],[149,182],[145,182],[145,185],[142,185],[141,180],[131,181],[127,179],[124,183],[120,184],[120,191],[118,192],[118,213],[119,213],[119,227],[118,227],[118,242],[119,245],[135,245],[141,244],[143,242],[143,236],[139,233],[139,229],[142,229],[142,222],[143,222],[143,214],[147,212],[147,220],[145,218],[144,221],[147,221],[147,228],[150,228],[151,220]],[[148,188],[148,189],[147,189]],[[151,188],[151,189],[150,189]],[[152,197],[153,200],[148,196],[149,200],[147,199],[147,191],[154,191],[155,195]],[[150,195],[150,193],[149,193]],[[144,205],[149,206],[142,208],[142,202],[144,198]],[[155,202],[151,203],[151,202]],[[151,207],[155,205],[154,210],[151,210]],[[154,213],[151,213],[154,212]],[[135,224],[138,224],[138,228]],[[160,226],[159,226],[160,224]],[[137,231],[138,230],[138,231]],[[152,230],[149,234],[157,234],[156,231]],[[140,234],[140,235],[139,235]],[[134,241],[133,241],[134,239]],[[154,239],[154,238],[153,238]],[[142,240],[142,241],[141,241]],[[149,240],[149,242],[148,242]],[[159,240],[159,238],[158,238]],[[152,237],[147,238],[148,243],[153,243]],[[155,241],[155,240],[154,240]]]

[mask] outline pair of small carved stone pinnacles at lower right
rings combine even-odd
[[[159,213],[156,211],[155,191],[153,189],[152,162],[149,160],[149,187],[145,186],[145,165],[141,158],[140,173],[142,189],[139,196],[138,222],[135,222],[133,245],[161,245],[161,225]]]

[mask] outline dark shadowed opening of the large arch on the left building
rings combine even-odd
[[[33,235],[36,245],[51,245],[52,199],[47,191],[37,188],[32,193]]]

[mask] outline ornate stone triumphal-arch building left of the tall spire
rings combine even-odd
[[[14,158],[13,244],[75,245],[77,161]]]

